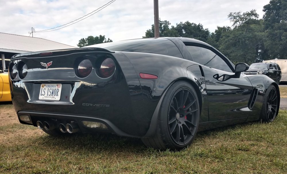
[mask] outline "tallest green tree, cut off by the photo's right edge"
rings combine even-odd
[[[263,7],[265,47],[272,59],[287,59],[287,1],[271,0]]]

